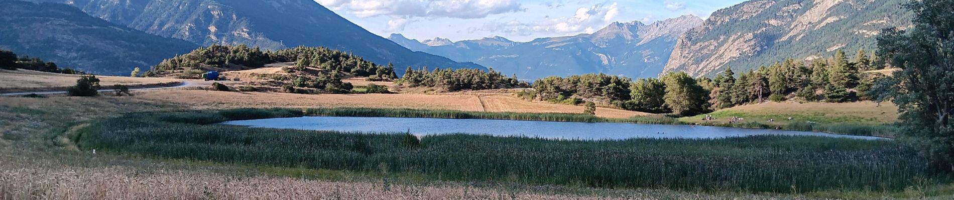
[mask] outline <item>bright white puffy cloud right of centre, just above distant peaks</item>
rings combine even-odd
[[[484,30],[503,32],[513,35],[530,35],[537,32],[550,33],[580,33],[592,32],[619,15],[616,3],[611,5],[598,4],[589,8],[576,9],[573,16],[552,18],[547,17],[537,22],[524,23],[516,20],[508,22],[488,23]]]

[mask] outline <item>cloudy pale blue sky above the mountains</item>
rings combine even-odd
[[[517,42],[591,33],[612,22],[703,19],[743,0],[315,0],[368,31],[424,41],[502,36]]]

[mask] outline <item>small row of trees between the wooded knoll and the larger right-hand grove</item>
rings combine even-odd
[[[489,71],[440,68],[429,71],[407,67],[404,77],[398,82],[410,87],[438,87],[446,91],[529,87],[529,83],[518,80],[517,75],[508,78],[493,68]]]

